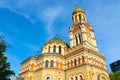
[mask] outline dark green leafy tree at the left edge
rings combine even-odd
[[[7,49],[7,44],[4,37],[0,35],[0,80],[10,80],[10,76],[14,75],[14,71],[10,70],[10,63],[7,62],[7,57],[4,55]]]

